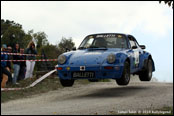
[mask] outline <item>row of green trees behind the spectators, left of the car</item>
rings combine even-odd
[[[1,19],[1,44],[14,46],[18,43],[21,48],[26,48],[31,40],[34,40],[37,45],[37,53],[44,55],[44,57],[37,56],[37,59],[57,59],[60,54],[66,51],[66,48],[71,50],[75,45],[71,37],[69,39],[62,37],[58,46],[51,45],[47,40],[46,33],[34,33],[33,30],[25,33],[21,24]],[[57,62],[37,62],[35,71],[51,70],[50,68],[54,68],[56,64]]]

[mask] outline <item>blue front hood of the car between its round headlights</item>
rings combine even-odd
[[[120,52],[120,49],[116,50],[77,50],[69,58],[69,65],[71,66],[83,66],[83,65],[101,65],[107,56],[111,53],[116,54]]]

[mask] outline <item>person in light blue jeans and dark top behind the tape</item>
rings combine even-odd
[[[15,44],[15,48],[13,50],[13,53],[20,53],[19,44]],[[20,59],[21,59],[20,55],[13,55],[13,60],[20,60]],[[21,62],[13,61],[13,69],[14,69],[13,84],[18,84],[16,82],[17,82],[17,78],[19,75],[20,63]]]

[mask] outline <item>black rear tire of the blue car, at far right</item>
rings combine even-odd
[[[152,79],[152,60],[151,59],[148,60],[145,70],[140,72],[139,79],[141,81],[150,81]]]

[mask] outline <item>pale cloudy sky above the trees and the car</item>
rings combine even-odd
[[[49,43],[72,37],[78,47],[94,33],[126,33],[152,54],[159,81],[173,82],[173,9],[158,1],[1,1],[1,19],[25,32],[45,32]]]

